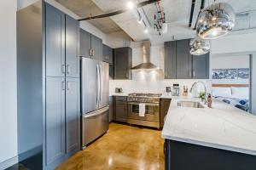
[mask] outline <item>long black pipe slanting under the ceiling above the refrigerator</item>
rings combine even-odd
[[[160,1],[160,0],[148,0],[148,1],[144,1],[143,3],[137,3],[136,7],[137,7],[137,8],[141,8],[141,7],[144,7],[144,6],[148,5],[148,4],[156,3],[156,2],[158,2],[158,1]],[[111,12],[111,13],[108,13],[108,14],[100,14],[100,15],[96,15],[96,16],[90,16],[90,17],[87,17],[87,18],[79,19],[79,21],[106,18],[106,17],[110,17],[110,16],[117,15],[117,14],[125,13],[125,12],[128,11],[128,10],[129,10],[129,9],[123,8],[123,9],[119,9],[119,10],[117,10],[117,11],[114,11],[114,12]]]

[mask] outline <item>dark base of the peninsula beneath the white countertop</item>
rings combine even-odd
[[[255,170],[256,156],[166,139],[166,170]]]

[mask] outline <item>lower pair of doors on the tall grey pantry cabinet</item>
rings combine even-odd
[[[79,78],[47,77],[46,165],[55,167],[80,149]]]

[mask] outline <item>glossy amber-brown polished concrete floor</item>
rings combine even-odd
[[[57,170],[163,170],[163,148],[160,131],[111,123],[108,133]]]

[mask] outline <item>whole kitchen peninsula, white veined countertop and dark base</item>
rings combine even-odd
[[[168,98],[168,96],[163,96]],[[213,100],[212,109],[178,106],[172,98],[162,131],[166,170],[255,170],[256,116]]]

